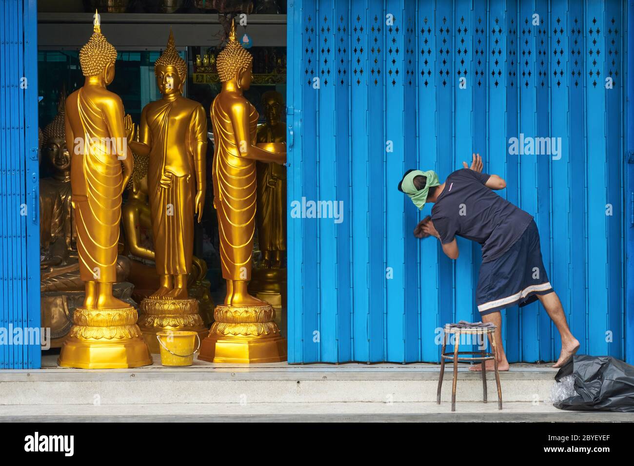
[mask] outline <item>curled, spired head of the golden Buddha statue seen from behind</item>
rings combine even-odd
[[[108,85],[115,79],[115,61],[117,61],[117,49],[101,34],[99,15],[95,11],[93,35],[79,51],[82,73],[86,77],[101,75],[105,84]]]

